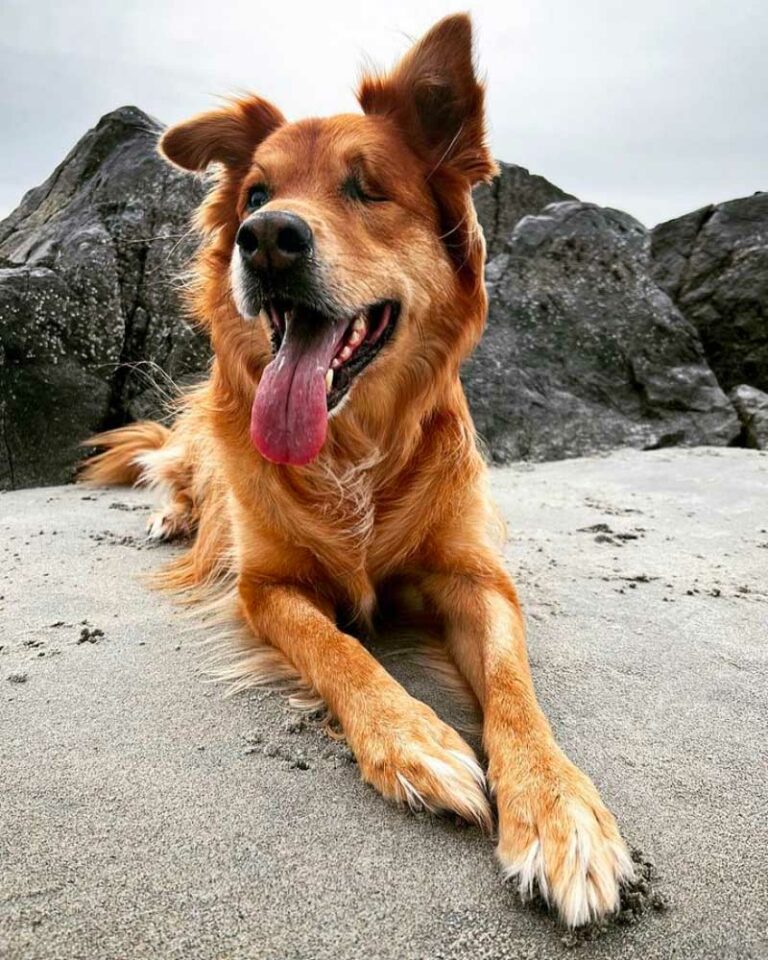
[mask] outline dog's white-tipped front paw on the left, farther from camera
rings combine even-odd
[[[485,776],[471,747],[426,704],[407,694],[397,701],[347,734],[363,779],[414,810],[450,811],[490,829]]]

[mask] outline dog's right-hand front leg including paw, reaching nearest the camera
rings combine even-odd
[[[505,875],[524,899],[538,886],[570,926],[613,912],[632,862],[594,784],[558,747],[538,705],[512,583],[502,570],[440,573],[424,589],[483,706]]]

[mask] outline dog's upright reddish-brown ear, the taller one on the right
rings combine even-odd
[[[448,166],[470,184],[496,173],[467,14],[435,24],[390,73],[364,76],[357,98],[365,113],[391,117],[433,167]]]

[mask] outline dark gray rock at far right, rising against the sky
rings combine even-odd
[[[653,274],[696,326],[720,385],[768,390],[768,193],[652,232]]]

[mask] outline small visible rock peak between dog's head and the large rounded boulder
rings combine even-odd
[[[501,253],[523,217],[540,213],[550,203],[576,198],[525,167],[499,161],[498,177],[493,183],[481,184],[473,199],[490,260]]]

